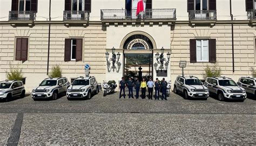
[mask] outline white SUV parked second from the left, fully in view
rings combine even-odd
[[[67,78],[46,78],[41,84],[32,90],[33,100],[53,99],[56,100],[59,94],[65,94],[66,89],[70,86]]]

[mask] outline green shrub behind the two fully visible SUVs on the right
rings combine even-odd
[[[221,76],[221,68],[218,66],[218,64],[215,64],[214,66],[206,66],[204,68],[204,79],[207,77],[220,77]]]

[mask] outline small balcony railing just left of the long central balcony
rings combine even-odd
[[[88,21],[90,17],[89,11],[64,11],[63,20],[67,21]]]

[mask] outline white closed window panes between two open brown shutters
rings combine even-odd
[[[197,61],[207,62],[209,61],[209,48],[207,39],[197,40]]]

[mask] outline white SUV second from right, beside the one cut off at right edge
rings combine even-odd
[[[245,89],[239,87],[231,78],[206,78],[205,86],[210,93],[217,95],[220,101],[224,101],[225,98],[244,101],[247,96]]]

